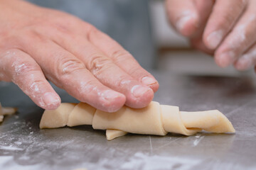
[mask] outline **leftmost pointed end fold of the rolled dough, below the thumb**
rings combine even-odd
[[[55,110],[43,113],[40,128],[60,128],[68,124],[68,116],[75,107],[75,103],[61,103]]]

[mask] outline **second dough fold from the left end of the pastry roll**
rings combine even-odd
[[[96,108],[87,103],[78,103],[68,117],[68,126],[92,125],[92,118]]]

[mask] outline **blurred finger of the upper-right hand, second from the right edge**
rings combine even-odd
[[[221,67],[227,67],[246,52],[256,40],[256,1],[248,6],[235,28],[228,34],[218,50],[215,61]]]

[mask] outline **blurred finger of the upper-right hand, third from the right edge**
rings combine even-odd
[[[203,42],[206,47],[215,50],[225,35],[233,28],[247,5],[247,0],[217,0],[210,14],[206,29],[203,33]]]

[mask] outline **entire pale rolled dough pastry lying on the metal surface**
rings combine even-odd
[[[160,105],[154,101],[146,108],[124,106],[115,113],[97,110],[86,103],[62,103],[56,110],[43,113],[40,128],[65,125],[92,125],[94,129],[107,130],[107,140],[127,132],[148,135],[166,135],[168,132],[193,135],[201,130],[235,132],[220,111],[180,112],[177,106]]]

